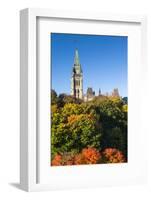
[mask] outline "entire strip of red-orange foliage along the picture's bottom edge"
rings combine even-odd
[[[102,153],[97,149],[88,147],[84,148],[79,154],[64,153],[56,154],[52,160],[52,166],[63,165],[82,165],[97,163],[122,163],[125,162],[124,155],[115,148],[106,148]]]

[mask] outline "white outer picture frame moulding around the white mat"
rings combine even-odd
[[[100,13],[72,12],[72,11],[54,11],[49,9],[24,9],[20,12],[20,185],[26,191],[52,190],[78,187],[77,184],[70,182],[57,185],[53,183],[39,183],[39,145],[38,145],[38,72],[37,72],[37,19],[69,19],[91,21],[93,22],[109,22],[127,25],[139,24],[141,33],[141,68],[142,86],[145,84],[146,70],[146,51],[147,51],[147,30],[145,16],[124,16],[109,15]],[[99,26],[99,23],[98,23]],[[134,74],[133,74],[134,75]],[[138,79],[136,81],[139,81]],[[143,138],[145,134],[143,133]],[[141,139],[142,144],[144,139]],[[137,143],[137,141],[136,141]],[[145,151],[145,146],[143,151]],[[97,184],[79,184],[79,187],[92,187],[103,185],[127,185],[146,182],[146,162],[145,156],[143,164],[140,168],[140,176],[128,177],[123,181],[110,181]],[[96,176],[96,174],[94,175]],[[95,177],[97,179],[97,176]]]

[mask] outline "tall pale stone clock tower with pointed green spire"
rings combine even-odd
[[[74,66],[72,68],[71,95],[77,99],[83,99],[83,73],[77,49],[75,50]]]

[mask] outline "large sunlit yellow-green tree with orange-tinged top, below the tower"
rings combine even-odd
[[[83,113],[82,104],[65,104],[52,115],[52,154],[80,152],[88,146],[99,149],[101,129],[93,113]]]

